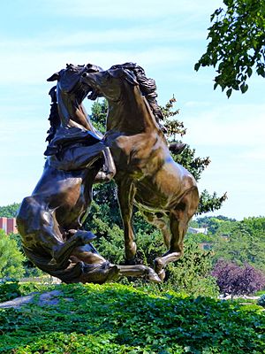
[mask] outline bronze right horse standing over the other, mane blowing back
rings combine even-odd
[[[163,280],[164,266],[183,255],[184,236],[198,207],[199,193],[192,174],[171,158],[157,124],[157,115],[162,113],[154,100],[155,81],[133,63],[84,73],[82,81],[109,104],[105,139],[117,168],[114,179],[124,223],[125,258],[133,264],[136,254],[134,204],[148,222],[162,230],[168,251],[155,258],[155,272]]]

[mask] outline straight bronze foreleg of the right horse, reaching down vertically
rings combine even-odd
[[[124,224],[125,258],[129,264],[133,264],[136,254],[136,243],[134,242],[132,225],[134,195],[135,187],[133,182],[122,181],[122,183],[118,184],[117,197]]]

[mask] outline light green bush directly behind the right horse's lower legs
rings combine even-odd
[[[95,248],[100,254],[114,264],[124,263],[124,239],[121,228],[114,225],[109,227],[101,219],[95,219],[97,235],[102,237],[94,242]],[[163,237],[158,230],[151,233],[140,230],[136,235],[137,264],[153,266],[154,259],[161,256],[166,248],[163,244]],[[211,252],[201,250],[198,244],[190,240],[186,241],[185,253],[178,262],[167,266],[166,281],[160,285],[160,289],[182,291],[193,296],[218,296],[216,281],[209,275],[212,269]],[[142,284],[144,281],[132,279],[135,284]],[[125,283],[124,279],[121,282]]]

